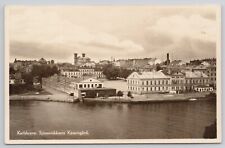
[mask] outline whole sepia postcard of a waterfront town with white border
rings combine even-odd
[[[7,144],[220,143],[216,5],[8,5]]]

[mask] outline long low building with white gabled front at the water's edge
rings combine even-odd
[[[78,98],[116,96],[116,89],[105,88],[103,82],[94,78],[68,78],[54,75],[42,78],[42,86],[54,88]]]

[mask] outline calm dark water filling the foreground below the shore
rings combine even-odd
[[[10,102],[11,139],[202,138],[216,117],[215,101],[149,104]],[[17,131],[87,132],[17,135]]]

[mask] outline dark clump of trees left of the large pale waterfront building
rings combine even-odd
[[[107,64],[103,67],[103,74],[109,80],[115,80],[118,78],[126,79],[132,72],[132,70],[116,67],[113,64]]]

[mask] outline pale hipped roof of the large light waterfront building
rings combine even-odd
[[[162,71],[151,71],[151,72],[133,72],[129,78],[139,78],[139,79],[153,79],[153,78],[170,78],[165,75]]]

